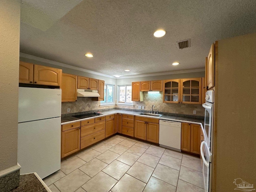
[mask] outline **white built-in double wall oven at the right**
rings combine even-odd
[[[202,104],[205,108],[204,115],[204,141],[200,146],[200,153],[202,156],[203,164],[203,176],[204,176],[204,187],[207,192],[211,191],[211,175],[212,175],[212,145],[213,145],[213,110],[214,110],[214,90],[206,92],[206,102]]]

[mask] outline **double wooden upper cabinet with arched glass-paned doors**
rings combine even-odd
[[[163,102],[201,104],[202,78],[164,80]]]

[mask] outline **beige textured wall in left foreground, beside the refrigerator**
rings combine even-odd
[[[20,1],[0,2],[0,171],[17,165]]]

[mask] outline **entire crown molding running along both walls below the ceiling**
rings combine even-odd
[[[36,56],[25,54],[25,53],[20,53],[20,57],[33,59],[33,60],[36,60],[36,61],[41,61],[41,62],[45,62],[45,63],[57,65],[57,66],[62,66],[62,67],[66,67],[66,68],[70,68],[70,69],[74,69],[74,70],[78,70],[78,71],[83,71],[83,72],[87,72],[87,73],[91,73],[91,74],[95,74],[95,75],[100,75],[100,76],[104,76],[104,77],[108,77],[108,78],[112,78],[112,79],[126,79],[126,78],[136,78],[136,77],[161,76],[161,75],[194,73],[194,72],[203,72],[203,71],[205,71],[205,69],[202,68],[202,69],[182,70],[182,71],[173,71],[173,72],[151,73],[151,74],[114,77],[114,76],[111,76],[111,75],[98,73],[98,72],[95,72],[95,71],[83,69],[83,68],[80,68],[80,67],[71,66],[71,65],[68,65],[68,64],[64,64],[64,63],[60,63],[60,62],[56,62],[56,61],[52,61],[52,60],[48,60],[48,59],[44,59],[44,58],[40,58],[40,57],[36,57]]]

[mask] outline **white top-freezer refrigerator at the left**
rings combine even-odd
[[[40,178],[60,170],[61,90],[19,87],[20,173]]]

